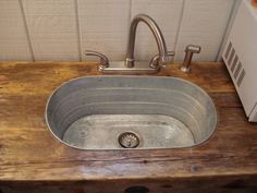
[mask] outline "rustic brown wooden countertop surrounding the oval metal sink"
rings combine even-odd
[[[44,119],[49,95],[64,81],[96,74],[85,62],[0,63],[0,182],[257,177],[257,124],[247,122],[222,63],[195,63],[189,74],[173,64],[158,74],[189,80],[213,99],[218,128],[201,145],[97,152],[58,142]]]

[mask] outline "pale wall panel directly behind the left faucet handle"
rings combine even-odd
[[[124,60],[128,16],[130,0],[78,0],[82,51],[96,50],[110,60]],[[93,58],[83,55],[83,60]]]

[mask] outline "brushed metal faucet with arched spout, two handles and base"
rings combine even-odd
[[[135,39],[136,29],[139,22],[144,22],[152,32],[156,39],[159,55],[152,57],[150,62],[135,62],[134,50],[135,50]],[[101,72],[122,72],[122,73],[157,73],[160,67],[164,67],[170,62],[170,57],[174,56],[173,51],[167,51],[166,41],[163,35],[157,25],[157,23],[146,14],[136,15],[130,26],[130,35],[127,41],[127,51],[124,62],[109,62],[109,59],[96,51],[86,51],[86,56],[96,56],[100,58],[99,71]]]

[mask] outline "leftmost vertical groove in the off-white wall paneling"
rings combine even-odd
[[[23,23],[24,23],[24,28],[25,28],[25,34],[26,34],[26,38],[27,38],[27,46],[28,46],[28,49],[29,49],[29,52],[30,52],[30,58],[32,58],[32,61],[35,62],[36,61],[35,53],[34,53],[33,46],[32,46],[30,35],[29,35],[27,20],[26,20],[26,14],[25,14],[25,11],[24,11],[22,0],[19,0],[19,5],[20,5],[21,13],[22,13],[22,20],[23,20]]]

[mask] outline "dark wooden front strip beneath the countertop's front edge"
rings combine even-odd
[[[5,185],[8,184],[8,185]],[[39,181],[30,183],[26,182],[4,182],[2,183],[2,192],[4,193],[123,193],[127,188],[140,185],[150,190],[150,193],[255,193],[257,185],[255,177],[210,177],[210,178],[183,178],[171,180],[110,180],[110,181],[66,181],[63,182],[46,182]]]

